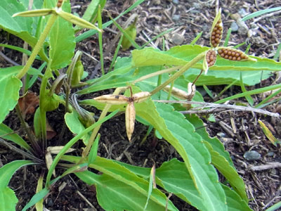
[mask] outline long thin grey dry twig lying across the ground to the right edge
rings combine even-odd
[[[280,114],[278,114],[278,113],[271,113],[267,110],[262,110],[259,108],[251,108],[251,107],[246,107],[246,106],[224,105],[224,104],[216,104],[216,103],[203,103],[203,102],[197,102],[197,101],[165,101],[165,100],[154,100],[154,101],[159,102],[159,103],[197,104],[197,105],[202,105],[204,107],[242,110],[242,111],[249,111],[249,112],[254,112],[254,113],[261,113],[263,115],[269,115],[271,117],[280,117]],[[188,112],[188,110],[186,110],[186,111],[181,111],[181,113],[186,114],[189,112]]]

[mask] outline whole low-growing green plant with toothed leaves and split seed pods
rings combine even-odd
[[[124,13],[141,2],[136,1]],[[133,41],[135,32],[130,37],[131,32],[123,30],[122,37],[126,37],[126,46],[123,47],[127,49],[133,44],[137,49],[131,51],[130,57],[117,58],[112,72],[81,82],[86,73],[81,63],[81,52],[74,53],[75,42],[97,32],[101,39],[104,27],[112,22],[117,24],[115,19],[102,25],[103,6],[103,0],[92,1],[83,16],[84,20],[70,13],[69,1],[52,0],[42,4],[34,0],[31,11],[27,11],[27,1],[1,1],[0,12],[4,18],[0,18],[0,27],[30,44],[32,53],[20,49],[30,55],[27,63],[0,69],[0,143],[26,158],[8,162],[0,168],[0,210],[15,210],[18,199],[8,183],[14,172],[25,165],[40,165],[48,173],[39,177],[37,193],[23,210],[33,205],[37,210],[42,210],[42,199],[51,191],[51,186],[67,174],[75,174],[86,184],[95,185],[98,203],[105,210],[178,210],[166,193],[176,195],[198,210],[251,210],[244,182],[223,144],[207,134],[200,117],[183,115],[179,111],[192,108],[194,103],[190,104],[190,101],[204,102],[195,85],[253,85],[259,82],[261,70],[278,71],[281,64],[268,58],[249,56],[235,48],[219,46],[223,25],[221,11],[218,11],[211,27],[211,47],[192,43],[175,46],[169,51],[143,48]],[[98,27],[89,21],[98,21]],[[73,27],[72,23],[77,26]],[[133,27],[135,24],[136,18]],[[84,27],[93,30],[75,37],[74,32]],[[101,40],[100,44],[102,46]],[[41,60],[44,73],[35,66],[31,68],[35,59]],[[202,72],[205,74],[201,75]],[[263,78],[266,77],[269,74],[263,73]],[[22,116],[18,99],[22,84],[25,84],[22,89],[22,96],[25,96],[39,78],[39,108],[34,113],[32,132]],[[280,88],[281,84],[277,84],[266,89]],[[105,89],[115,91],[109,95],[78,100],[84,94]],[[244,92],[237,97],[256,93],[259,91]],[[157,102],[170,98],[183,99],[179,101],[183,105]],[[59,104],[65,106],[65,122],[62,124],[76,135],[65,145],[58,140],[57,146],[48,146],[46,113],[57,109]],[[101,110],[98,120],[88,110],[81,108],[83,105]],[[3,123],[14,108],[28,139],[23,139]],[[155,169],[155,166],[137,167],[99,157],[98,143],[103,137],[98,131],[103,122],[118,112],[125,113],[129,141],[133,140],[137,120],[148,125],[150,130],[154,128],[159,136],[174,146],[183,161],[173,158]],[[80,140],[85,145],[81,156],[65,155]],[[65,172],[57,175],[57,166],[63,167]],[[218,181],[216,170],[227,179],[227,185]]]

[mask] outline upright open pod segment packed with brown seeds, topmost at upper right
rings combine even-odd
[[[223,23],[221,22],[221,9],[216,14],[213,25],[211,27],[210,45],[216,48],[223,37]]]

